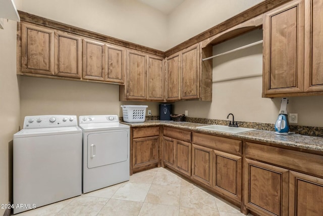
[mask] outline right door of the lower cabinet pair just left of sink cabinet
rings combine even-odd
[[[191,176],[191,148],[192,144],[184,141],[176,141],[175,144],[175,168],[187,176]]]

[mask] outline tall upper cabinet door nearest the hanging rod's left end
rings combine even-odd
[[[198,99],[199,79],[199,45],[182,51],[181,99]]]

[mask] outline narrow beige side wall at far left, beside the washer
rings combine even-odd
[[[12,199],[13,135],[19,131],[20,121],[16,35],[17,22],[4,19],[4,29],[0,29],[0,204]],[[0,208],[0,215],[5,210]]]

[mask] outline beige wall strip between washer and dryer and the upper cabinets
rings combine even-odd
[[[158,115],[156,103],[119,102],[119,85],[20,77],[21,126],[27,115],[122,115],[121,104],[148,105]]]

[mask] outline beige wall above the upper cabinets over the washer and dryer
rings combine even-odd
[[[165,51],[167,18],[135,0],[24,0],[19,10]]]

